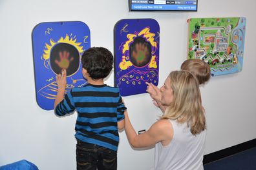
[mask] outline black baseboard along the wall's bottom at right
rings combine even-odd
[[[210,162],[213,162],[215,160],[219,160],[221,158],[225,158],[226,156],[234,155],[235,153],[239,153],[242,151],[245,151],[247,149],[250,149],[252,147],[256,147],[256,138],[253,140],[249,140],[247,142],[244,142],[242,144],[238,144],[236,146],[231,146],[226,149],[222,149],[220,151],[216,151],[214,153],[209,153],[208,155],[204,155],[204,164],[208,164]]]

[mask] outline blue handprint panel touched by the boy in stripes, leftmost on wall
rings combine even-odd
[[[67,70],[65,93],[87,84],[80,58],[91,46],[90,30],[80,21],[39,23],[32,32],[32,45],[37,104],[50,110],[58,90],[56,75],[61,70]]]

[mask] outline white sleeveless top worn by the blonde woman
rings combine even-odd
[[[192,135],[187,123],[173,126],[173,139],[167,146],[158,142],[155,147],[155,170],[198,170],[204,169],[202,160],[206,141],[206,130]]]

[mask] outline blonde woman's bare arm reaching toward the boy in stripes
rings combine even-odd
[[[173,134],[170,129],[172,126],[169,120],[158,120],[148,131],[137,135],[129,120],[127,110],[125,110],[125,133],[133,147],[153,146],[160,141],[171,140]]]

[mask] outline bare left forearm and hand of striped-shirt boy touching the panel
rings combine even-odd
[[[65,94],[65,89],[67,86],[67,71],[65,69],[63,69],[61,71],[61,74],[56,75],[56,82],[58,84],[58,92],[56,95],[56,99],[54,101],[54,110],[56,108],[56,106],[59,104],[59,102],[61,102],[63,100],[64,94]]]

